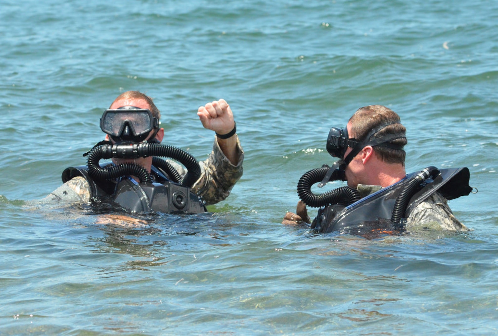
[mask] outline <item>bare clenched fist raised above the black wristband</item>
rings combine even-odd
[[[227,134],[234,129],[234,114],[224,99],[201,106],[197,115],[204,128],[214,130],[218,134]]]

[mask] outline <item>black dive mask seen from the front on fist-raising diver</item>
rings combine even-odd
[[[154,139],[159,129],[159,120],[148,109],[124,106],[117,110],[106,110],[100,119],[100,128],[117,143],[138,143],[150,137]]]

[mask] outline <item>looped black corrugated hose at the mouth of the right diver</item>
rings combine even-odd
[[[312,208],[321,208],[331,204],[348,206],[360,200],[358,190],[350,187],[340,187],[323,194],[314,194],[311,186],[322,181],[329,167],[312,169],[304,173],[297,183],[297,194],[301,201]]]

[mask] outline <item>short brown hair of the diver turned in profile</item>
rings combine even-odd
[[[353,114],[349,121],[351,122],[352,135],[359,141],[364,141],[373,128],[392,122],[392,124],[385,126],[375,133],[374,137],[387,134],[404,136],[387,142],[401,148],[408,142],[406,140],[406,128],[401,124],[399,115],[385,106],[370,105],[360,108]],[[383,162],[401,163],[404,166],[406,152],[403,149],[393,149],[377,145],[373,146],[373,150]]]

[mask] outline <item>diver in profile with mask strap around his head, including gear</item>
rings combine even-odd
[[[332,127],[327,151],[340,160],[301,177],[298,209],[287,213],[283,224],[307,222],[318,232],[360,235],[418,228],[468,230],[447,202],[470,194],[469,169],[430,166],[406,174],[405,132],[399,116],[378,105],[359,109],[346,128]],[[323,194],[311,191],[315,183],[323,187],[336,180],[348,181],[348,186]],[[312,223],[305,205],[319,208]]]

